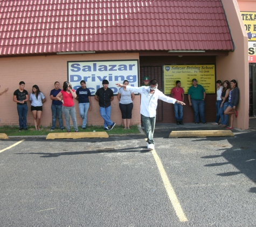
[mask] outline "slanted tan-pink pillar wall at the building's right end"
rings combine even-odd
[[[234,127],[248,129],[249,127],[249,72],[248,72],[248,42],[240,9],[236,0],[222,0],[229,22],[231,35],[236,49],[229,56],[217,56],[217,80],[236,80],[240,90],[238,118],[234,119]]]

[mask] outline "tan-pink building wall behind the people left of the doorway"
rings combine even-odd
[[[49,56],[22,56],[13,58],[1,58],[0,61],[0,92],[9,87],[9,90],[0,96],[1,112],[0,125],[18,125],[17,104],[12,101],[13,92],[19,88],[19,82],[24,81],[25,89],[29,95],[32,92],[32,86],[37,84],[43,94],[46,96],[46,102],[43,104],[43,114],[41,116],[41,125],[49,126],[52,123],[50,91],[54,89],[54,82],[60,82],[60,88],[64,81],[67,81],[67,61],[83,60],[121,60],[121,59],[139,59],[137,53],[123,54],[72,54],[72,55],[49,55]],[[82,120],[79,116],[78,101],[74,100],[77,110],[78,125]],[[136,95],[133,101],[132,124],[141,124],[140,118],[140,96]],[[33,125],[33,117],[30,111],[30,102],[28,102],[29,112],[27,113],[27,123]],[[114,96],[112,101],[112,120],[117,124],[122,123],[119,101]],[[65,122],[65,120],[64,120]],[[58,124],[58,121],[57,121]],[[88,111],[88,125],[103,125],[103,119],[99,113],[99,104],[92,96],[92,111]]]

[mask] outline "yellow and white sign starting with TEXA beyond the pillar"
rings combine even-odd
[[[240,12],[248,36],[249,62],[256,62],[256,12]]]

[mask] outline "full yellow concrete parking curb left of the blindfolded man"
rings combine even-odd
[[[57,132],[47,134],[46,139],[108,138],[107,132]]]

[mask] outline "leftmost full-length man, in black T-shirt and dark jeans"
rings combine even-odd
[[[17,111],[19,115],[19,132],[22,130],[27,130],[27,100],[29,100],[29,93],[24,89],[25,88],[25,82],[20,81],[19,82],[19,89],[17,89],[13,93],[13,102],[17,103]]]

